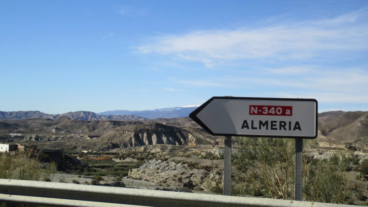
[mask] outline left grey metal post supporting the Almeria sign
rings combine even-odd
[[[224,142],[224,196],[231,196],[231,137]]]

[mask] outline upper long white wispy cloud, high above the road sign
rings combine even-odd
[[[368,8],[339,17],[268,25],[258,29],[193,31],[163,35],[141,53],[174,55],[212,67],[218,60],[311,59],[326,52],[368,50]]]

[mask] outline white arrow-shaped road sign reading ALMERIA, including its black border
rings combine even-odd
[[[215,136],[317,137],[317,101],[212,97],[189,117]]]

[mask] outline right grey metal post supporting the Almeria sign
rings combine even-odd
[[[295,197],[294,200],[301,201],[302,191],[302,166],[303,166],[303,139],[295,139]]]

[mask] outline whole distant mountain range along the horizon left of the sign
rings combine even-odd
[[[197,105],[191,105],[150,110],[113,110],[101,113],[90,111],[76,111],[63,114],[47,114],[40,111],[0,111],[0,119],[49,118],[54,120],[57,117],[67,116],[71,119],[80,120],[137,121],[156,118],[185,117],[188,116],[196,108],[198,108]]]

